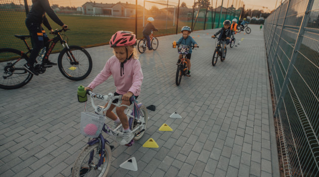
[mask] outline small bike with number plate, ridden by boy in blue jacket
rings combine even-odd
[[[178,48],[178,53],[182,54],[182,58],[180,59],[180,62],[177,64],[177,71],[176,71],[176,78],[175,78],[175,83],[176,85],[179,85],[182,80],[182,76],[186,75],[188,72],[188,66],[186,62],[186,55],[189,52],[189,49],[192,48],[194,49],[194,46],[188,46],[188,45],[176,45]],[[199,46],[197,46],[199,48]]]

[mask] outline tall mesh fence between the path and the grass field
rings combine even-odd
[[[242,0],[50,0],[49,3],[71,29],[66,32],[68,43],[82,47],[106,45],[118,30],[134,31],[142,38],[148,17],[153,17],[154,26],[160,29],[154,32],[155,36],[180,32],[185,25],[193,30],[217,28],[225,19],[239,19],[243,7]],[[23,42],[14,34],[28,34],[25,17],[31,6],[31,0],[0,0],[0,48],[25,51]],[[53,29],[61,28],[46,16]]]

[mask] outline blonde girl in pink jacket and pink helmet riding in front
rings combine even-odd
[[[85,88],[93,90],[97,85],[101,84],[112,75],[116,86],[115,96],[122,95],[122,104],[131,105],[130,98],[134,95],[137,98],[141,92],[143,81],[143,73],[141,64],[138,60],[136,45],[136,35],[130,31],[117,31],[110,40],[110,47],[113,48],[114,56],[112,56],[105,64],[102,71],[95,79]],[[118,99],[113,103],[117,103]],[[105,105],[107,106],[107,104]],[[129,122],[124,110],[126,106],[116,107],[116,114],[112,112],[115,105],[110,105],[106,111],[106,116],[114,120],[113,129],[121,122],[123,126],[123,140],[120,145],[126,145],[131,142],[134,135],[129,127]]]

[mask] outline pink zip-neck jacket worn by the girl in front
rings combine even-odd
[[[132,92],[134,96],[140,95],[141,85],[143,81],[143,73],[139,60],[130,59],[124,63],[124,74],[121,76],[121,63],[118,59],[112,56],[106,62],[102,71],[95,77],[88,87],[94,89],[101,84],[112,74],[114,84],[116,86],[116,93],[124,95]]]

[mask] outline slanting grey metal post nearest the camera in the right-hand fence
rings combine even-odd
[[[300,49],[301,42],[302,42],[301,38],[302,38],[302,35],[305,32],[304,26],[307,24],[307,22],[309,20],[309,10],[310,10],[310,7],[312,6],[313,2],[314,2],[313,0],[308,0],[307,8],[306,8],[305,13],[304,13],[304,15],[302,17],[302,21],[301,21],[301,25],[300,25],[300,28],[299,28],[298,36],[297,36],[297,39],[296,39],[296,42],[295,42],[294,52],[291,55],[291,60],[290,60],[290,63],[289,63],[288,69],[287,69],[287,74],[286,74],[286,77],[285,77],[285,80],[284,80],[284,84],[283,84],[282,90],[281,90],[280,95],[278,97],[279,100],[278,100],[277,105],[281,104],[281,102],[283,100],[281,98],[287,92],[287,87],[285,85],[288,84],[288,80],[290,78],[290,75],[291,75],[291,72],[292,72],[292,69],[293,69],[293,65],[296,62],[297,54],[299,52],[298,50]],[[278,106],[276,106],[276,108],[275,108],[274,116],[275,116],[275,113],[277,112],[277,110],[278,110]]]

